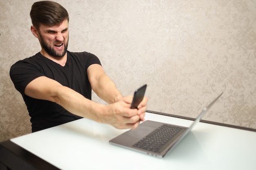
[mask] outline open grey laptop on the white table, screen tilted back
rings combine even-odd
[[[213,104],[220,98],[223,92],[213,100],[193,121],[189,127],[165,124],[158,121],[146,120],[139,124],[136,129],[128,130],[111,139],[110,144],[142,152],[156,157],[164,157],[202,119]]]

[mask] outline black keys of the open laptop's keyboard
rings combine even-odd
[[[152,152],[161,152],[185,129],[179,126],[163,124],[133,146]]]

